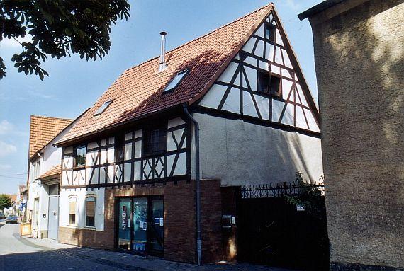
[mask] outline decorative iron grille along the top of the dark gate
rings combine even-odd
[[[270,183],[266,185],[242,185],[241,198],[242,199],[259,199],[267,197],[283,197],[298,196],[305,190],[319,190],[321,195],[324,195],[324,183],[307,183],[306,185],[299,185],[298,183]]]

